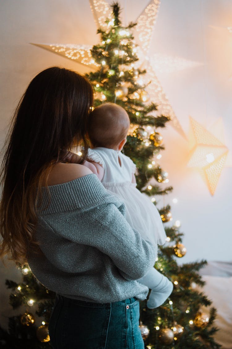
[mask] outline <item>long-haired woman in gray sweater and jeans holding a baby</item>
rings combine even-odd
[[[0,254],[28,262],[57,294],[49,324],[53,348],[144,348],[136,282],[155,252],[125,220],[125,207],[88,168],[91,84],[52,67],[19,103],[1,169]],[[64,154],[83,145],[80,164]],[[64,151],[65,150],[65,151]]]

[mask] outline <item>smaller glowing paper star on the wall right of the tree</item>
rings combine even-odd
[[[222,121],[218,121],[218,125]],[[214,127],[215,129],[215,127]],[[214,195],[222,169],[225,166],[228,148],[222,138],[222,127],[219,127],[219,135],[215,136],[205,127],[190,117],[190,160],[189,167],[197,168],[206,181],[211,195]]]

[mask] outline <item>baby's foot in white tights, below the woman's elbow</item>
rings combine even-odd
[[[157,308],[163,304],[173,291],[173,283],[167,277],[166,279],[165,286],[161,290],[158,291],[156,288],[151,290],[149,299],[147,300],[147,307],[149,309]]]

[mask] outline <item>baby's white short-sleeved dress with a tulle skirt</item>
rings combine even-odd
[[[163,245],[166,233],[157,208],[136,184],[131,183],[132,173],[136,170],[133,161],[119,151],[103,147],[89,149],[87,157],[103,166],[101,182],[106,190],[125,202],[126,220],[130,226],[154,246]]]

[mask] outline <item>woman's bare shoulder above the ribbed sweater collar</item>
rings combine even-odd
[[[86,166],[80,164],[58,163],[53,166],[48,176],[48,185],[62,184],[93,173]]]

